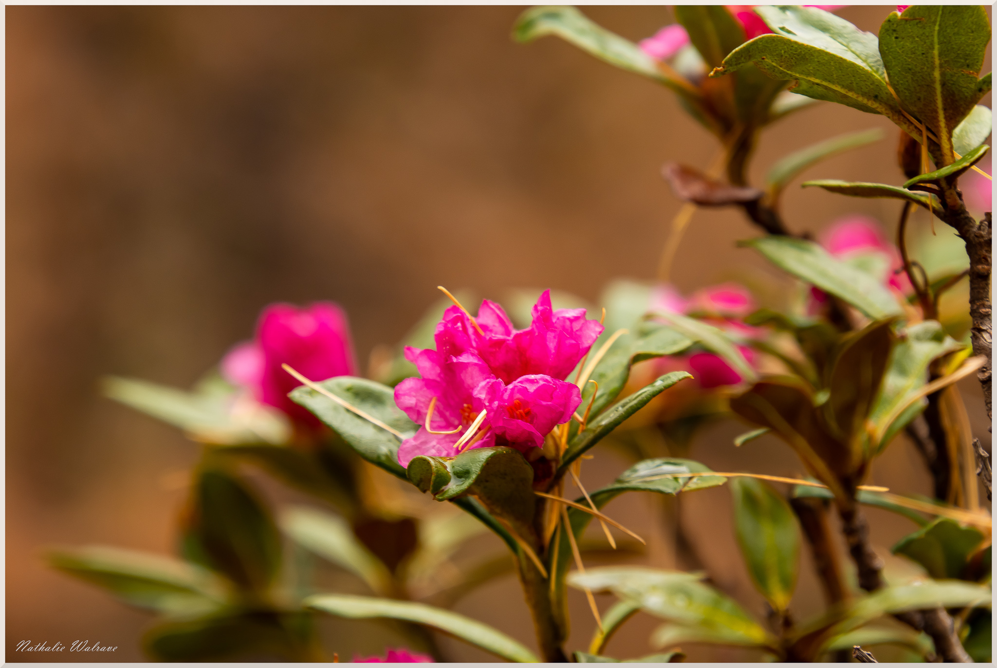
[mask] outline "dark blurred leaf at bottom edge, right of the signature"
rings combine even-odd
[[[249,612],[167,622],[143,638],[155,661],[321,660],[308,613]]]

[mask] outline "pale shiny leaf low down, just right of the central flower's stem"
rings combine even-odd
[[[702,629],[727,645],[775,647],[778,641],[733,599],[699,582],[699,575],[637,566],[591,568],[568,575],[571,586],[609,590],[641,609]]]

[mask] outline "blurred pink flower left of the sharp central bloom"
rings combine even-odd
[[[221,373],[229,382],[249,389],[257,401],[282,410],[295,421],[317,426],[311,413],[287,398],[300,383],[282,364],[316,381],[356,375],[343,310],[332,302],[305,308],[271,304],[260,314],[255,339],[235,346],[221,360]]]

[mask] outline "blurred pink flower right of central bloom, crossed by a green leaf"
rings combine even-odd
[[[752,336],[758,330],[742,322],[755,310],[751,293],[737,283],[725,283],[704,288],[686,299],[671,285],[658,286],[651,298],[651,309],[692,315],[721,329]],[[754,364],[755,351],[739,345],[738,350],[749,364]],[[743,378],[724,358],[708,352],[670,357],[664,364],[669,371],[688,371],[704,390],[725,385],[737,385]],[[659,366],[661,366],[659,364]]]

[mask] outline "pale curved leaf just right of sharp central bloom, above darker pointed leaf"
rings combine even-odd
[[[634,364],[665,355],[678,355],[695,343],[675,329],[657,323],[643,323],[639,334],[624,334],[616,339],[592,370],[589,380],[598,383],[599,389],[592,402],[589,420],[600,415],[619,396]],[[588,406],[593,392],[595,386],[586,383],[581,393],[583,407]]]

